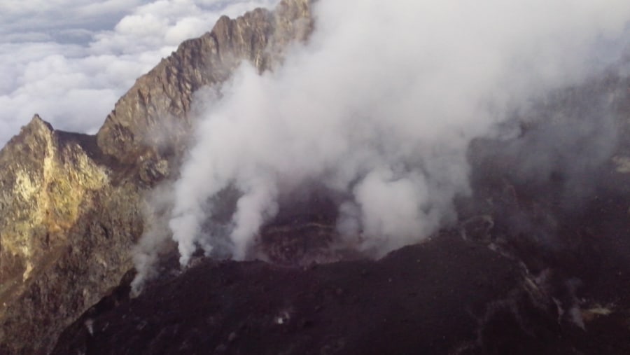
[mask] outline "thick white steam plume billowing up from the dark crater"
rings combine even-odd
[[[199,118],[169,222],[181,263],[221,238],[204,225],[226,188],[241,193],[235,258],[312,181],[348,197],[338,228],[363,251],[427,237],[468,193],[470,141],[584,78],[630,1],[321,0],[314,13],[309,43],[262,76],[244,64]]]

